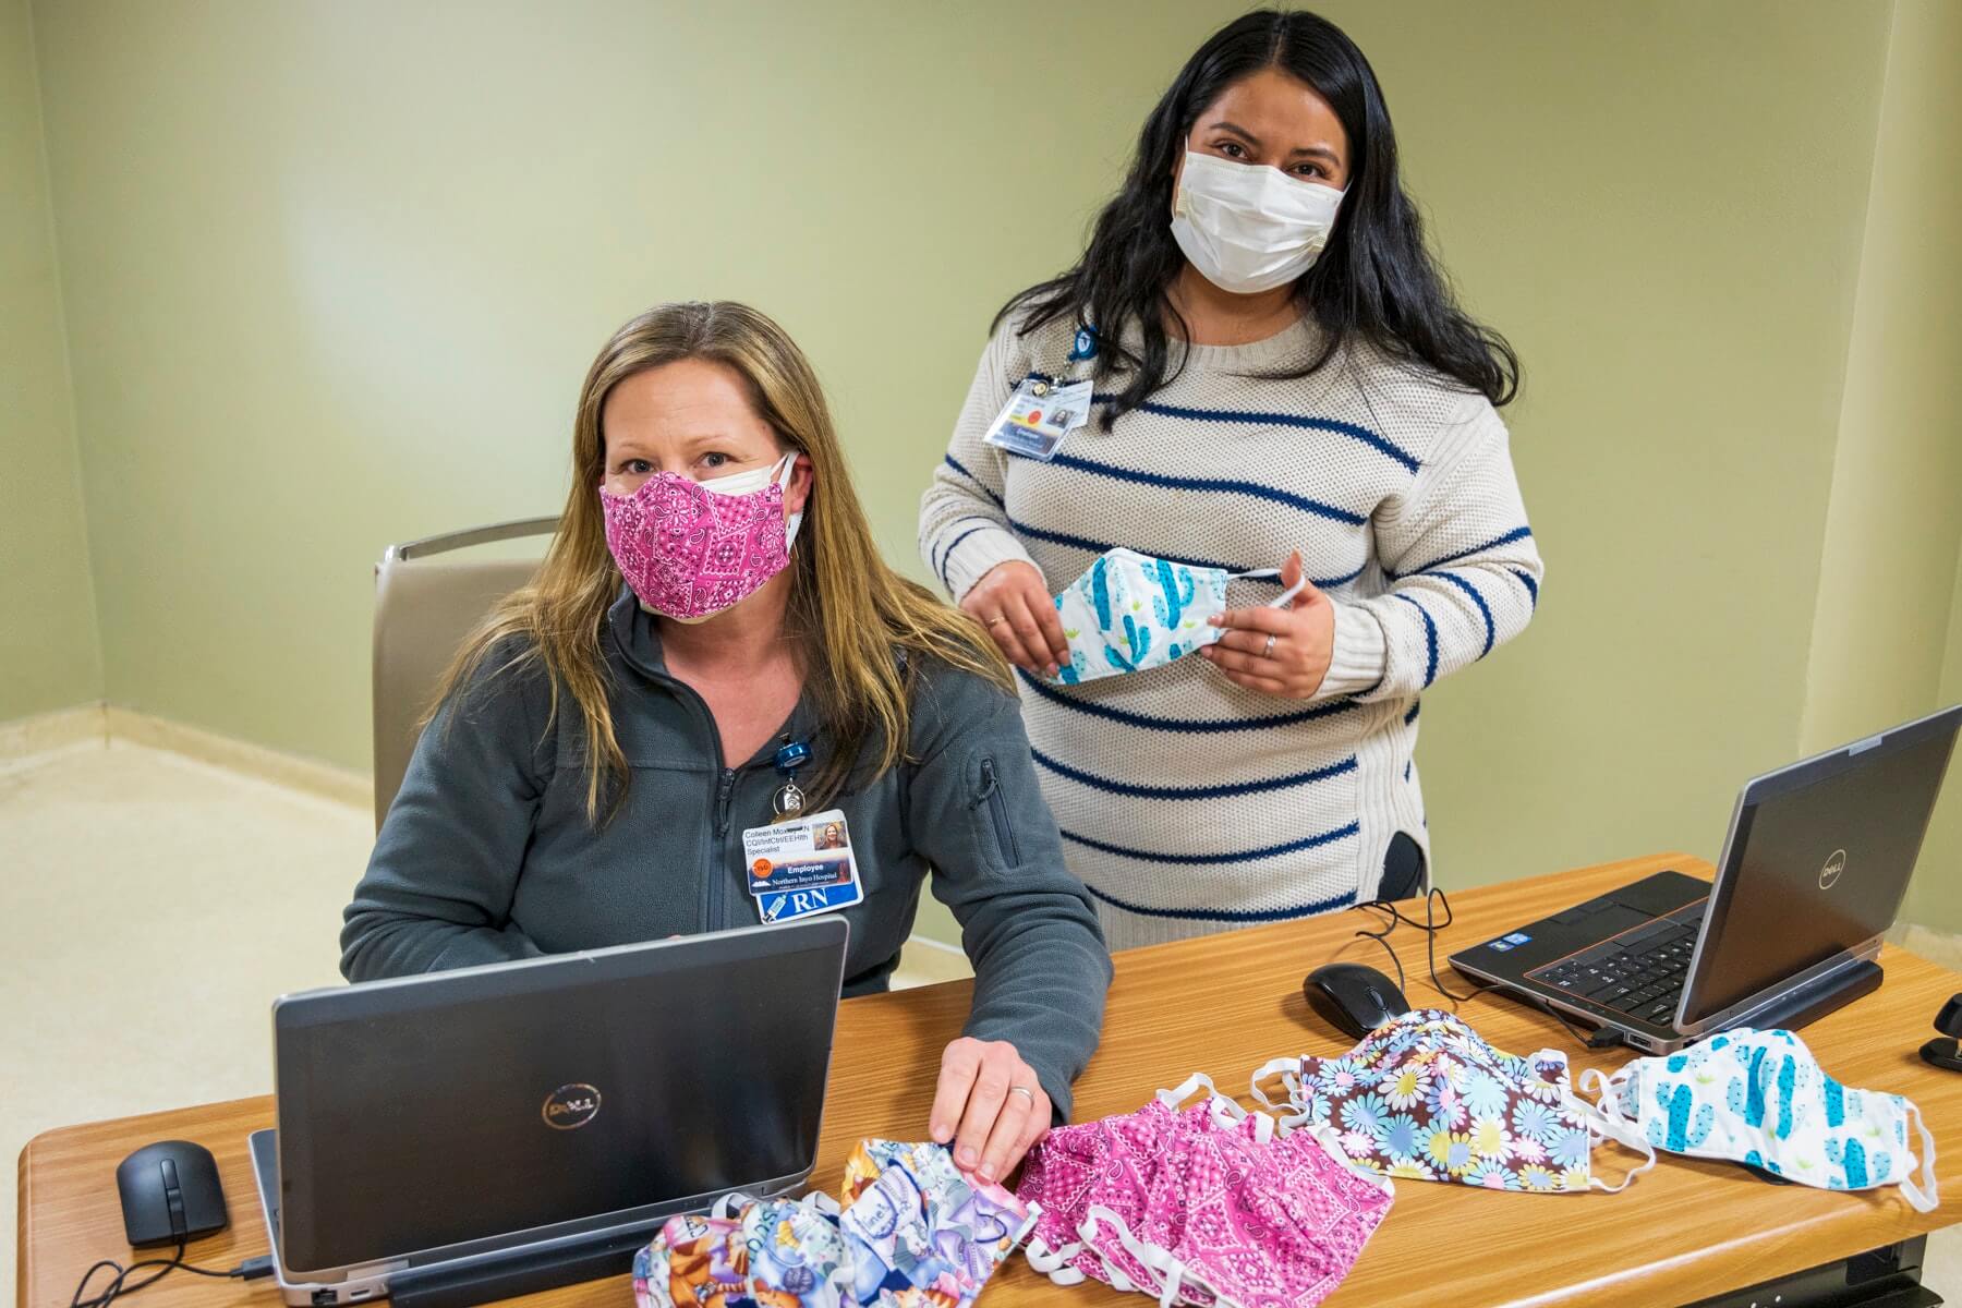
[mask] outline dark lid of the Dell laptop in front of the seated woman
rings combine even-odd
[[[800,1175],[844,941],[818,918],[283,1000],[286,1267]]]

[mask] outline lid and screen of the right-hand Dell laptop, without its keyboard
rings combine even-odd
[[[1962,708],[1744,788],[1683,1024],[1856,949],[1893,924]]]

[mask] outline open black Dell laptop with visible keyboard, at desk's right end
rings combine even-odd
[[[1793,1028],[1880,984],[1962,704],[1766,773],[1738,794],[1707,882],[1666,871],[1452,955],[1636,1049]]]

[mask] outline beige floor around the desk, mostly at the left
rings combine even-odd
[[[141,745],[0,759],[0,1153],[55,1126],[269,1092],[267,1004],[339,982],[336,930],[371,841],[365,808]],[[1903,935],[1962,963],[1954,937]],[[961,975],[957,951],[916,945],[899,981]],[[0,1304],[14,1202],[0,1186]],[[1929,1284],[1962,1298],[1958,1232],[1931,1241]]]

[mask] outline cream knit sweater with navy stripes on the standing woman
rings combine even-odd
[[[1373,355],[1248,377],[1305,361],[1311,327],[1295,324],[1193,347],[1146,408],[1109,433],[1079,428],[1054,463],[983,443],[1030,373],[1089,375],[1067,363],[1073,335],[1010,324],[981,357],[920,502],[920,553],[955,602],[1007,559],[1054,594],[1128,545],[1230,571],[1299,549],[1336,608],[1315,700],[1244,690],[1195,657],[1081,686],[1022,677],[1036,771],[1110,947],[1369,898],[1395,831],[1430,851],[1411,759],[1420,692],[1538,602],[1505,424],[1483,396]],[[1238,580],[1228,604],[1273,594]]]

